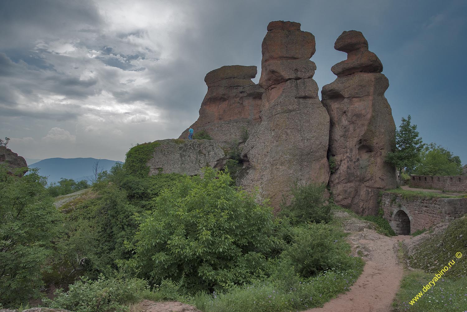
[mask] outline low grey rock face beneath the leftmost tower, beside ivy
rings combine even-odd
[[[225,158],[224,151],[213,140],[158,140],[161,145],[154,149],[148,160],[149,175],[177,173],[195,175],[209,165],[220,168]]]

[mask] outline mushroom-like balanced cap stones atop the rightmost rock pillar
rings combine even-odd
[[[375,53],[368,51],[368,42],[360,31],[344,31],[334,49],[347,52],[347,59],[331,68],[338,77],[353,73],[381,73],[382,63]]]

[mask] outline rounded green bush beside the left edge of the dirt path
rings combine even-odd
[[[305,224],[292,229],[292,242],[279,259],[278,281],[290,276],[308,278],[329,268],[346,270],[352,267],[350,246],[345,234],[324,223]]]

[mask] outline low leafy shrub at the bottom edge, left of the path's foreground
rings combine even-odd
[[[44,304],[74,312],[123,312],[129,311],[128,304],[141,300],[140,294],[147,287],[142,279],[100,275],[96,281],[83,278],[71,284],[67,292],[57,290],[57,297]]]

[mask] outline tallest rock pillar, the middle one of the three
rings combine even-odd
[[[293,182],[327,183],[329,178],[329,116],[312,79],[314,52],[314,36],[299,23],[269,23],[262,42],[261,123],[243,147],[248,166],[237,182],[246,189],[258,187],[275,208]]]

